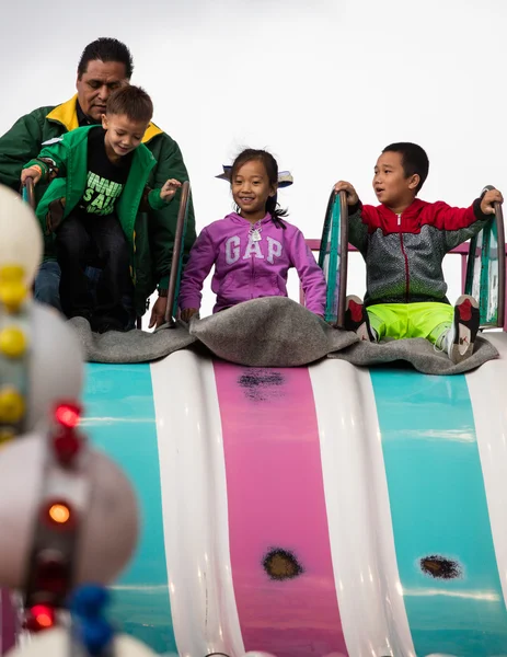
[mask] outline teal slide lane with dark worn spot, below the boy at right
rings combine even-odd
[[[465,378],[380,369],[370,376],[416,655],[507,655],[507,612]]]

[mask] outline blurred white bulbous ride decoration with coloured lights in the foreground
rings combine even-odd
[[[32,299],[41,230],[3,186],[0,232],[0,587],[20,601],[21,634],[10,654],[153,655],[104,618],[103,587],[136,546],[137,502],[79,428],[82,350],[65,320]]]

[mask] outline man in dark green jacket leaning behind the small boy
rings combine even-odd
[[[22,116],[0,137],[0,183],[19,191],[23,165],[37,157],[43,145],[74,128],[100,124],[108,95],[129,83],[132,68],[129,49],[117,39],[103,37],[89,44],[78,66],[78,93],[61,105],[39,107]],[[168,178],[188,180],[180,147],[169,135],[151,123],[142,141],[157,160],[148,178],[150,187],[162,187]],[[45,191],[46,185],[37,185],[37,201]],[[142,241],[142,251],[136,252],[138,269],[142,272],[142,276],[136,285],[135,299],[125,300],[125,306],[129,310],[134,309],[137,314],[143,314],[148,298],[158,288],[159,298],[153,306],[150,326],[160,325],[164,321],[178,199],[180,192],[166,208],[141,214],[136,220],[137,230],[147,237]],[[185,255],[194,241],[195,219],[191,207]],[[96,279],[96,269],[89,268],[88,274],[92,280]],[[59,280],[60,272],[55,253],[46,249],[35,281],[35,297],[60,308]]]

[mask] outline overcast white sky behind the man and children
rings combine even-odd
[[[198,229],[230,211],[228,185],[214,176],[244,146],[272,150],[293,173],[280,200],[308,238],[320,235],[336,180],[375,200],[373,164],[391,141],[427,150],[422,198],[468,205],[484,184],[507,189],[505,0],[90,0],[72,9],[68,0],[25,0],[20,8],[2,1],[0,132],[70,97],[82,48],[115,36],[132,51],[132,82],[152,95],[155,122],[183,150]],[[450,283],[452,300],[456,276]],[[350,288],[364,291],[356,264]]]

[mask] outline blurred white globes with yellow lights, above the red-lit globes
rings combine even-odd
[[[43,241],[32,208],[0,185],[0,443],[31,431],[59,399],[79,399],[83,355],[59,314],[32,299]]]

